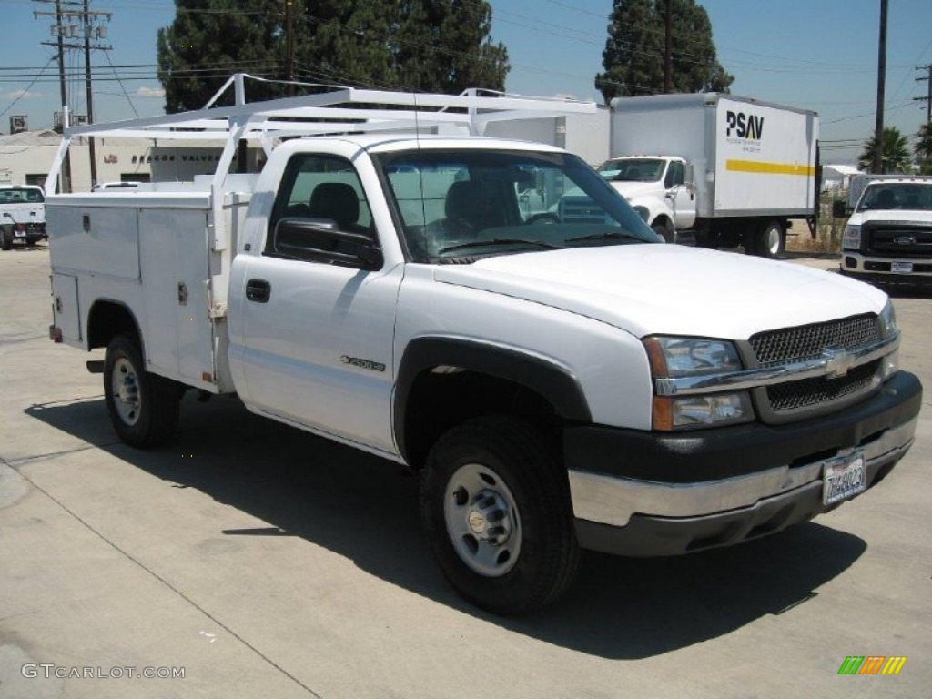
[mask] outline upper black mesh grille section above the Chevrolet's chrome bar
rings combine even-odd
[[[879,338],[877,317],[869,313],[758,333],[751,336],[750,345],[758,363],[771,366],[816,359],[822,356],[823,349],[854,349]]]

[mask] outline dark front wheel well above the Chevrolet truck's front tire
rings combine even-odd
[[[435,366],[415,378],[405,405],[404,451],[408,465],[420,469],[432,445],[447,430],[485,415],[522,418],[560,453],[561,419],[537,391],[514,381],[459,367]]]

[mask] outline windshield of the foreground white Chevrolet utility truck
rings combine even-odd
[[[422,149],[377,164],[416,262],[657,242],[610,185],[566,153]]]

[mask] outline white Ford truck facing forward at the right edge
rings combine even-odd
[[[842,274],[879,284],[932,286],[932,177],[857,175],[842,238]]]

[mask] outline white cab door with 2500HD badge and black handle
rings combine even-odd
[[[282,219],[376,236],[349,159],[313,153],[289,159],[264,249],[238,254],[231,273],[241,286],[241,326],[232,339],[240,344],[243,399],[268,414],[394,454],[392,339],[404,267],[365,269],[283,253],[289,248],[275,243]]]

